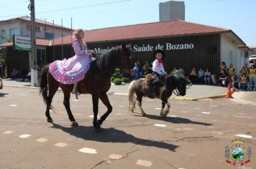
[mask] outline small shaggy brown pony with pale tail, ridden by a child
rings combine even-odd
[[[131,84],[129,84],[128,88],[128,95],[129,95],[129,110],[134,112],[134,108],[136,105],[136,102],[138,102],[138,105],[140,107],[140,111],[142,112],[143,116],[146,116],[147,114],[142,109],[142,97],[149,97],[151,99],[154,98],[153,96],[153,87],[152,87],[152,75],[147,74],[145,79],[137,79]],[[170,111],[170,102],[168,102],[169,97],[172,95],[174,90],[176,91],[177,95],[184,96],[186,95],[186,84],[187,80],[186,78],[181,77],[174,77],[170,76],[166,79],[166,82],[164,82],[163,87],[159,88],[160,95],[158,99],[162,100],[162,109],[160,112],[161,117],[166,117]],[[168,108],[163,111],[165,108],[165,105],[168,106]]]

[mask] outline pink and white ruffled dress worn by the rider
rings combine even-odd
[[[75,84],[84,79],[91,64],[87,50],[82,50],[78,40],[73,40],[76,55],[70,59],[56,60],[49,66],[49,72],[60,83]]]

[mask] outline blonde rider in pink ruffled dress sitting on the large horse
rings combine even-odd
[[[86,73],[92,62],[91,55],[96,54],[95,51],[87,49],[83,38],[83,29],[76,29],[76,31],[73,32],[72,41],[75,55],[69,59],[56,60],[49,66],[49,72],[52,74],[52,77],[63,84],[74,84],[72,93],[77,93],[78,95],[78,82],[86,77]]]

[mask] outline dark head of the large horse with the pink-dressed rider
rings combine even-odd
[[[131,72],[131,46],[127,44],[122,44],[122,47],[119,48],[119,57],[121,59],[121,64],[119,68],[121,71],[129,74]]]

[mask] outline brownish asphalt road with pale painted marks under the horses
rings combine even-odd
[[[70,100],[78,127],[70,127],[61,91],[46,122],[38,90],[4,87],[0,91],[0,168],[234,168],[225,147],[235,135],[247,137],[256,168],[256,107],[229,99],[174,101],[165,119],[160,100],[144,99],[147,117],[128,112],[125,95],[109,95],[113,112],[96,132],[91,95]],[[106,111],[100,103],[99,115]],[[202,113],[203,112],[203,113]]]

